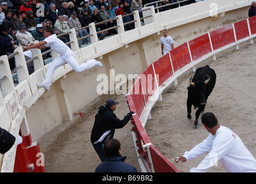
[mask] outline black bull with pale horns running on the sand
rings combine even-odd
[[[191,77],[192,78],[192,77]],[[198,117],[205,110],[207,98],[212,93],[216,82],[216,73],[208,65],[198,68],[188,89],[187,111],[188,118],[191,119],[191,106],[198,108],[195,113],[194,128],[198,128]]]

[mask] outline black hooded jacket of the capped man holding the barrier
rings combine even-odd
[[[132,114],[133,112],[129,112],[123,120],[119,120],[112,109],[99,106],[91,131],[91,143],[102,144],[106,140],[113,139],[115,129],[123,128],[131,119]]]

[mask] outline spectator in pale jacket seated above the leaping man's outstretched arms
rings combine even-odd
[[[16,36],[17,36],[18,42],[20,43],[20,46],[25,46],[35,41],[32,34],[26,30],[26,26],[24,24],[20,25]]]

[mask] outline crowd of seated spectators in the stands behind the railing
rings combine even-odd
[[[162,4],[176,1],[168,2],[166,0]],[[150,2],[154,2],[154,0],[0,0],[0,56],[10,55],[18,46],[24,46],[35,40],[42,41],[44,39],[43,28],[46,26],[54,28],[56,34],[67,33],[71,28],[79,29],[88,26],[91,22],[98,23],[118,15],[124,16],[134,10],[142,9],[142,6]],[[193,2],[195,1],[187,1],[187,4]],[[163,7],[161,11],[176,6],[179,5]],[[124,23],[132,20],[133,16],[123,17]],[[99,32],[99,30],[112,28],[116,24],[116,20],[104,22],[98,24],[96,30]],[[133,28],[133,23],[125,25],[125,30]],[[89,32],[90,30],[87,28],[78,30],[76,33],[77,37],[85,37]],[[102,40],[105,36],[113,34],[117,34],[117,28],[97,35],[99,40]],[[59,39],[64,43],[70,41],[68,34]],[[6,44],[6,41],[9,44]],[[88,38],[82,41],[83,44],[90,43]],[[44,55],[43,59],[47,59],[47,57],[50,57],[50,53]],[[9,59],[9,63],[12,63],[10,64],[12,70],[15,67],[15,62],[13,59]]]

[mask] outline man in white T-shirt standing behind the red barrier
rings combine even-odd
[[[174,49],[174,41],[172,37],[167,34],[167,30],[162,31],[163,36],[160,38],[160,44],[162,49],[162,55],[165,55],[172,49]]]

